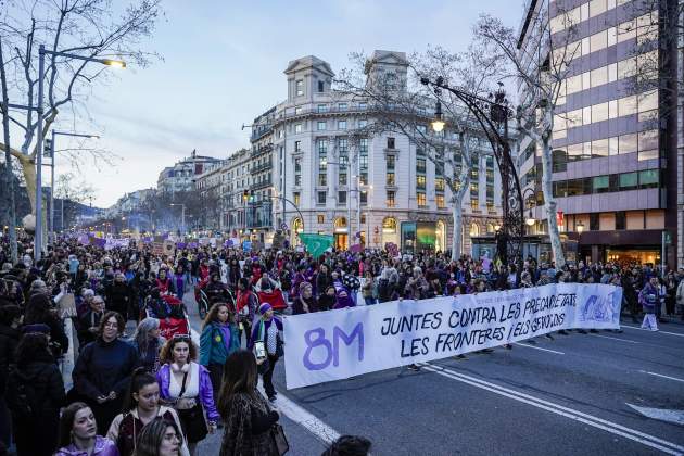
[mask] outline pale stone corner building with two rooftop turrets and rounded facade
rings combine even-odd
[[[406,80],[403,52],[376,51],[371,62],[369,80],[380,73]],[[293,244],[305,231],[333,235],[341,249],[360,240],[369,248],[391,242],[404,252],[448,250],[452,194],[444,173],[455,170],[435,166],[406,135],[354,135],[377,118],[368,102],[332,89],[334,73],[327,62],[305,56],[291,61],[284,74],[288,98],[275,107],[268,132],[277,191],[274,225],[287,226]],[[418,127],[433,134],[427,116]],[[445,138],[456,143],[455,132]],[[481,156],[471,176],[464,203],[466,253],[471,236],[493,233],[501,220],[494,157]]]

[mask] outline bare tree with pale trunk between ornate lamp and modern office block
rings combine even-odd
[[[565,104],[565,85],[571,72],[572,60],[581,54],[581,41],[573,41],[577,21],[570,12],[559,11],[563,33],[555,37],[552,47],[549,16],[542,7],[531,14],[525,42],[520,45],[512,28],[490,15],[482,15],[474,26],[476,42],[486,49],[486,55],[497,55],[506,65],[506,76],[520,86],[522,93],[517,107],[519,138],[531,138],[542,157],[542,191],[548,224],[548,236],[557,267],[566,259],[556,219],[557,203],[554,197],[552,139],[554,124],[568,128],[577,119],[559,107]],[[559,127],[559,125],[557,125]],[[562,127],[561,127],[562,128]]]

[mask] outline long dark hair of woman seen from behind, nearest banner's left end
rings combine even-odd
[[[227,419],[230,400],[236,393],[254,395],[257,382],[256,358],[251,351],[238,350],[224,364],[224,382],[218,393],[218,410]]]

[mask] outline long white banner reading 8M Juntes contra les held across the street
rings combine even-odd
[[[558,283],[284,317],[288,389],[517,342],[620,328],[622,288]]]

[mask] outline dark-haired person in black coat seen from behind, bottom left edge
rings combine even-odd
[[[48,343],[45,333],[24,334],[16,347],[16,368],[8,378],[17,456],[50,456],[58,447],[60,408],[66,404],[66,394]]]

